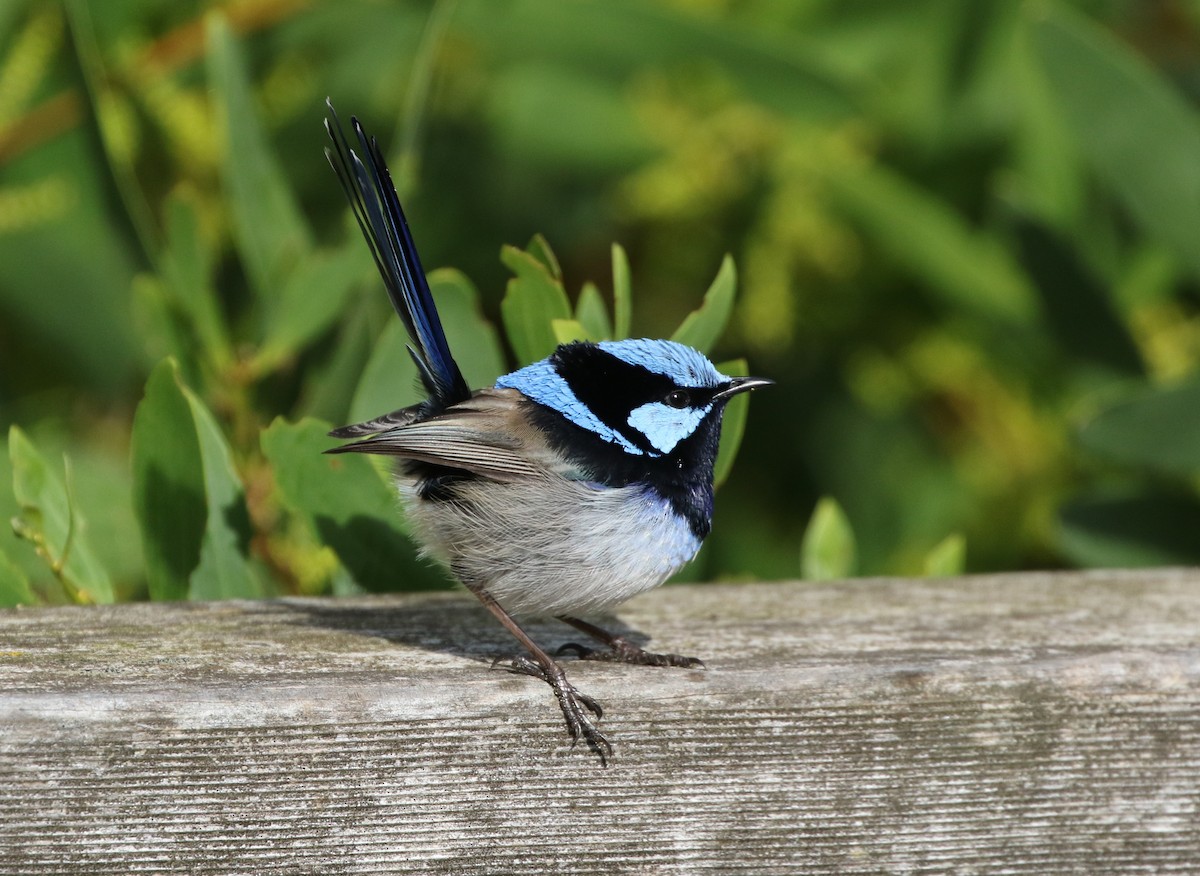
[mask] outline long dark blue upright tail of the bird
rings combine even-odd
[[[350,127],[362,148],[362,157],[350,149],[342,125],[326,98],[329,118],[325,131],[334,148],[325,148],[325,157],[337,174],[346,197],[354,210],[362,236],[388,287],[392,307],[400,314],[412,344],[408,348],[421,383],[430,394],[430,407],[442,409],[470,397],[470,389],[450,355],[445,331],[438,318],[430,284],[416,256],[416,245],[408,230],[404,211],[391,182],[388,164],[374,137],[367,137],[359,120],[350,116]]]

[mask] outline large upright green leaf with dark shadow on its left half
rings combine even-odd
[[[170,359],[146,382],[131,452],[150,596],[263,595],[248,562],[250,516],[229,448]]]

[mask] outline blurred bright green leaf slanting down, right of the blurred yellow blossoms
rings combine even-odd
[[[883,167],[827,178],[839,203],[887,253],[950,307],[1027,323],[1033,290],[1000,239],[973,230],[947,204]]]

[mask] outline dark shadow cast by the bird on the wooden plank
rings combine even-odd
[[[476,662],[506,661],[523,652],[499,622],[464,593],[397,594],[396,604],[378,598],[361,601],[283,599],[280,605],[295,613],[300,623],[325,630],[382,638],[421,650],[452,654]],[[595,619],[604,629],[628,642],[644,647],[649,637],[607,614]],[[556,660],[574,660],[574,652],[558,654],[564,644],[587,648],[604,646],[551,617],[518,619],[521,628]]]

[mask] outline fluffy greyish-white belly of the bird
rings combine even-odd
[[[464,485],[461,504],[398,486],[426,553],[514,614],[604,611],[658,587],[700,550],[686,521],[643,487],[487,482]]]

